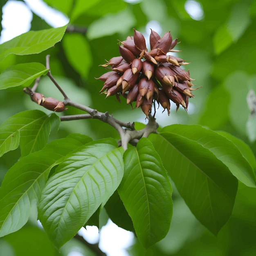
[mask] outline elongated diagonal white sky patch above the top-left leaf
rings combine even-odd
[[[69,22],[69,19],[61,11],[49,7],[42,0],[24,0],[24,2],[37,16],[43,18],[52,27],[62,27]],[[46,13],[47,15],[45,15]]]

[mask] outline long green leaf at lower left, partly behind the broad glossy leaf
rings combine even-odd
[[[54,140],[42,150],[20,158],[9,169],[0,187],[0,236],[25,225],[31,205],[38,202],[51,168],[90,140],[85,135]]]

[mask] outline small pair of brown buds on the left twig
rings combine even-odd
[[[32,100],[38,103],[38,105],[55,112],[62,112],[67,109],[62,101],[58,101],[52,97],[45,98],[45,96],[39,92],[33,93]]]

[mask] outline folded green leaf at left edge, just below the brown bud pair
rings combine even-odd
[[[27,110],[9,117],[0,126],[0,156],[18,148],[19,144],[22,156],[42,149],[49,138],[52,118],[60,123],[58,116],[52,115]]]

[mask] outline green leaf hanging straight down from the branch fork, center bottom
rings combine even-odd
[[[142,138],[124,153],[124,178],[118,193],[139,241],[148,248],[168,233],[172,216],[171,183],[152,143]]]

